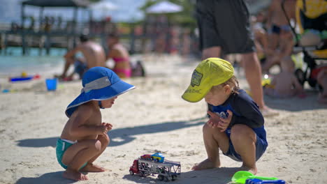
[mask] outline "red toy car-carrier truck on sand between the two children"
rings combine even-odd
[[[161,162],[161,160],[157,161],[159,158],[150,160],[148,156],[143,156],[134,160],[133,165],[129,168],[129,174],[138,174],[141,177],[158,174],[159,181],[174,181],[180,175],[180,162],[169,160]]]

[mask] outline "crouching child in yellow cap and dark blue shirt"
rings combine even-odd
[[[254,100],[239,88],[231,63],[219,58],[201,61],[182,98],[188,102],[205,98],[212,105],[210,119],[203,125],[208,158],[192,169],[220,167],[220,148],[224,155],[243,163],[240,169],[256,174],[256,160],[268,146],[264,118]]]

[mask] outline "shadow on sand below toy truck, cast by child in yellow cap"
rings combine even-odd
[[[182,172],[173,183],[226,184],[231,182],[231,178],[236,171],[240,171],[240,167],[221,167],[203,171],[187,171],[184,173]],[[164,181],[159,181],[157,175],[147,177],[125,175],[123,178],[135,183],[166,183]]]

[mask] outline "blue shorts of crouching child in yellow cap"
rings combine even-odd
[[[263,139],[261,139],[258,135],[256,135],[256,161],[259,160],[259,158],[261,158],[263,153],[265,153],[267,146],[268,145],[266,144],[266,142],[263,141]],[[223,154],[235,161],[242,162],[242,158],[238,153],[236,153],[234,146],[231,142],[231,139],[229,139],[228,151]]]

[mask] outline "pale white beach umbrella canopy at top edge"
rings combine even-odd
[[[177,13],[182,11],[182,6],[169,1],[160,1],[146,9],[147,13]]]

